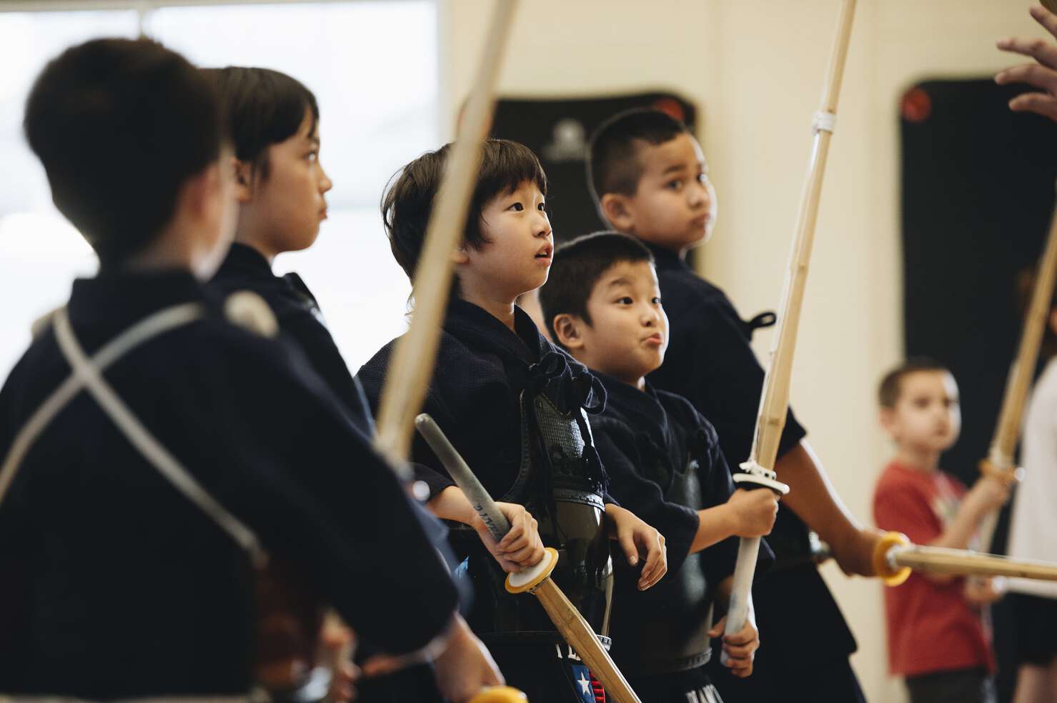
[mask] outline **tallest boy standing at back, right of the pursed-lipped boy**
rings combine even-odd
[[[685,261],[716,223],[716,191],[701,146],[683,123],[663,112],[624,112],[592,136],[589,181],[602,218],[642,240],[656,259],[671,341],[651,382],[689,400],[715,425],[727,464],[739,466],[748,459],[764,376],[748,343],[764,316],[742,321],[723,291]],[[750,679],[717,667],[717,685],[728,701],[784,698],[787,682],[808,667],[826,671],[812,681],[816,700],[861,698],[848,662],[855,640],[814,567],[808,528],[853,573],[872,573],[876,537],[848,515],[804,434],[790,412],[775,470],[792,491],[767,537],[775,568],[754,587],[767,646]]]

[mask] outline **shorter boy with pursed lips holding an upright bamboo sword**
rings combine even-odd
[[[705,665],[712,604],[725,607],[737,559],[734,537],[771,531],[778,499],[735,491],[716,430],[685,399],[646,380],[664,360],[668,319],[653,256],[613,232],[558,247],[540,290],[558,345],[606,386],[605,411],[592,420],[595,446],[620,504],[660,525],[668,575],[647,592],[614,594],[613,656],[647,703],[719,700]],[[769,550],[764,545],[764,563]],[[752,619],[723,644],[728,666],[747,677],[759,645]]]

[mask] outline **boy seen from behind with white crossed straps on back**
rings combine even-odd
[[[263,338],[259,299],[201,283],[230,241],[220,114],[148,40],[74,47],[31,91],[30,146],[99,273],[0,391],[2,693],[245,698],[265,553],[387,651],[451,629],[456,590],[392,471]],[[257,334],[227,321],[246,317]],[[92,385],[63,396],[72,366]]]

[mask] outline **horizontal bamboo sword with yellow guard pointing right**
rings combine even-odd
[[[1010,576],[1057,581],[1057,563],[1034,559],[1010,559],[969,550],[911,544],[906,535],[890,532],[873,553],[873,566],[885,584],[898,586],[912,571],[951,576]]]

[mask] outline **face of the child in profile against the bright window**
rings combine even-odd
[[[319,124],[311,113],[297,132],[267,148],[267,178],[255,173],[243,191],[240,233],[248,233],[273,256],[312,246],[327,219],[323,196],[333,185],[319,162]]]

